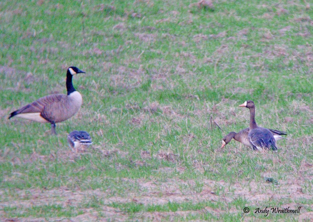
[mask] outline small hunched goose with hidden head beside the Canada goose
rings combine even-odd
[[[91,137],[86,131],[72,131],[67,137],[73,152],[85,152],[91,142]]]

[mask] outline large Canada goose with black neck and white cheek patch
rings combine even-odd
[[[72,117],[83,103],[82,96],[74,89],[72,83],[73,75],[85,73],[84,71],[71,66],[66,73],[67,95],[52,94],[41,97],[26,106],[12,112],[9,119],[13,116],[33,120],[41,123],[51,123],[51,133],[55,132],[55,123],[62,122]]]

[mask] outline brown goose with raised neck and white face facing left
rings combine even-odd
[[[269,129],[259,127],[254,119],[255,106],[254,102],[251,100],[245,101],[240,105],[241,107],[246,107],[250,111],[250,126],[248,138],[253,149],[260,150],[261,148],[277,150],[276,141],[273,134]]]

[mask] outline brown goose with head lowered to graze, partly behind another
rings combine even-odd
[[[273,134],[276,141],[284,138],[280,135],[287,135],[286,132],[282,132],[279,130],[269,129],[269,131]],[[222,140],[221,148],[223,148],[226,144],[228,144],[232,139],[243,143],[247,147],[251,147],[251,144],[248,139],[248,134],[249,134],[249,127],[239,131],[238,133],[237,132],[228,133]]]

